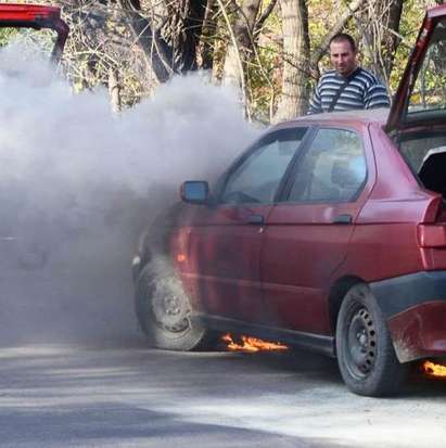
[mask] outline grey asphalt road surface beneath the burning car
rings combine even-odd
[[[1,447],[444,447],[444,383],[357,397],[305,354],[0,350]]]

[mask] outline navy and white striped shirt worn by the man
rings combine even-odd
[[[329,112],[333,98],[345,84],[345,76],[336,71],[326,72],[316,87],[308,114]],[[345,87],[333,111],[388,107],[390,100],[385,87],[372,73],[358,68]]]

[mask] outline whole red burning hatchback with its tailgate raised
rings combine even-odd
[[[368,396],[396,393],[410,361],[446,356],[445,77],[442,5],[390,113],[281,124],[212,189],[184,182],[133,259],[151,344],[280,341],[336,357]]]

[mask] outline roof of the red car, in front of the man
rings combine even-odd
[[[296,117],[293,120],[285,121],[279,127],[289,127],[293,125],[318,125],[318,124],[333,124],[339,126],[352,125],[367,125],[369,123],[377,123],[384,126],[387,121],[388,108],[374,108],[367,111],[343,111],[330,112],[323,114],[311,114]]]

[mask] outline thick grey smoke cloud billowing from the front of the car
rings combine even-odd
[[[176,78],[120,116],[39,62],[0,54],[0,345],[136,335],[138,231],[184,179],[256,132],[233,92]]]

